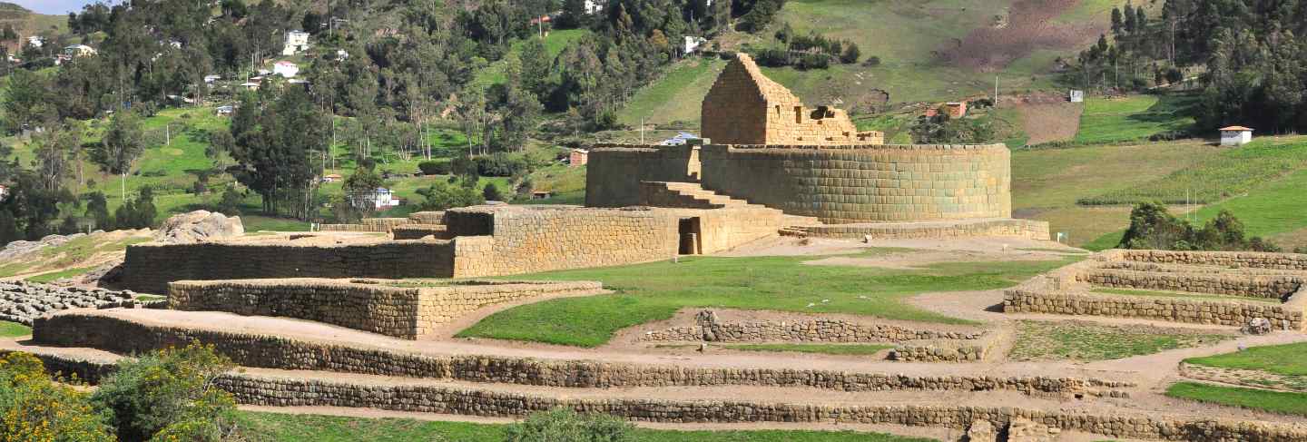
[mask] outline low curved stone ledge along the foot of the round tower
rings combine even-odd
[[[1016,237],[1048,241],[1048,222],[1009,218],[958,222],[831,224],[808,226],[802,230],[810,237],[838,239]]]

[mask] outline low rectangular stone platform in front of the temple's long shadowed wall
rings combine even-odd
[[[600,293],[599,282],[454,281],[391,286],[369,280],[235,280],[169,284],[169,307],[316,320],[401,339],[431,336],[482,306],[552,294]]]

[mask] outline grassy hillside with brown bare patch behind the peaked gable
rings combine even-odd
[[[765,68],[771,78],[804,101],[857,110],[868,105],[942,102],[991,95],[995,77],[1004,93],[1056,90],[1057,58],[1074,54],[1107,31],[1111,0],[791,0],[766,31],[718,38],[724,50],[771,47],[775,31],[789,24],[797,34],[847,39],[863,60],[880,65],[838,64],[827,69]],[[621,120],[640,118],[664,124],[698,122],[698,101],[715,69],[677,65],[642,90]],[[693,68],[691,68],[693,67]],[[651,99],[657,98],[657,99]],[[677,111],[663,106],[676,103]],[[681,106],[693,103],[694,106]]]

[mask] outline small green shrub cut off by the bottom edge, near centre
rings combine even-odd
[[[506,442],[621,442],[633,441],[635,426],[608,415],[580,415],[555,408],[532,413],[508,426]]]

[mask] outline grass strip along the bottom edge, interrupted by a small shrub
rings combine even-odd
[[[252,442],[400,442],[502,441],[507,425],[418,421],[412,418],[358,418],[319,415],[239,412],[242,435]],[[634,442],[927,442],[931,439],[855,432],[676,432],[637,429]]]

